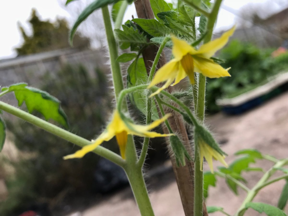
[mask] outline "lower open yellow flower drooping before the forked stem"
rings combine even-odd
[[[103,143],[104,141],[109,141],[114,136],[116,136],[117,143],[120,148],[120,154],[123,159],[125,159],[126,153],[126,144],[128,139],[128,134],[133,134],[141,137],[166,137],[174,134],[160,134],[157,132],[151,132],[152,128],[155,128],[162,122],[164,122],[167,118],[169,118],[170,114],[165,115],[163,118],[158,119],[152,122],[149,125],[137,125],[132,122],[124,122],[120,118],[120,114],[117,110],[114,111],[111,122],[108,124],[106,130],[99,135],[96,140],[92,140],[92,144],[84,146],[79,151],[76,151],[74,154],[67,155],[64,159],[70,158],[82,158],[85,154],[90,151],[93,151],[98,145]]]

